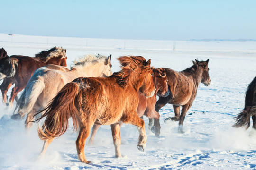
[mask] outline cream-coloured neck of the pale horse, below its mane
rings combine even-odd
[[[94,65],[79,65],[73,68],[73,72],[78,76],[100,77],[102,75],[102,66],[99,63]]]

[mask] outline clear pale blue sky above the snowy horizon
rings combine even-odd
[[[8,34],[256,39],[256,0],[3,0],[0,16]]]

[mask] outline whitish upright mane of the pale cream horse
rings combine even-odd
[[[100,54],[98,54],[98,56],[95,56],[93,54],[88,54],[88,55],[78,58],[77,60],[75,59],[73,62],[74,65],[71,67],[71,69],[77,68],[79,66],[84,67],[88,64],[94,64],[95,62],[105,62],[105,60],[107,58],[108,57],[100,55]]]

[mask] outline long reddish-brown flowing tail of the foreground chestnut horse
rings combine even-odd
[[[47,140],[63,135],[68,128],[70,117],[73,119],[74,131],[78,129],[78,110],[75,106],[75,98],[78,93],[79,86],[73,82],[68,83],[44,110],[37,113],[46,111],[44,115],[33,121],[38,122],[46,117],[44,125],[37,129],[40,139]]]

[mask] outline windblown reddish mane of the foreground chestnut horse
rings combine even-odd
[[[121,56],[117,58],[121,64],[122,70],[113,73],[113,77],[116,78],[117,83],[123,87],[129,82],[130,74],[137,67],[150,70],[150,65],[147,65],[146,59],[142,56]]]

